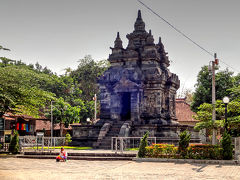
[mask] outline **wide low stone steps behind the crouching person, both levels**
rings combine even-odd
[[[17,158],[31,159],[56,159],[57,152],[24,152],[17,155]],[[131,161],[136,154],[117,154],[117,153],[68,153],[68,160],[88,160],[88,161]]]

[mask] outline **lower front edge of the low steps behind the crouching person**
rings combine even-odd
[[[17,155],[16,158],[29,159],[56,159],[56,156],[37,156],[37,155]],[[89,157],[89,156],[70,156],[68,160],[97,160],[97,161],[132,161],[132,157]]]

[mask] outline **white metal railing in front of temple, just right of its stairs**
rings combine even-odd
[[[111,149],[115,152],[123,152],[130,148],[138,148],[140,145],[142,137],[112,137]],[[156,143],[156,137],[147,138],[148,145]]]

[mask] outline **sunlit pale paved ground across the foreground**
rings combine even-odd
[[[134,161],[77,161],[0,159],[0,179],[240,179],[240,166],[153,163]]]

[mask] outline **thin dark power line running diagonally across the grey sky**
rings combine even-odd
[[[195,44],[197,47],[199,47],[200,49],[202,49],[203,51],[205,51],[207,54],[209,54],[210,56],[214,57],[214,54],[211,53],[210,51],[208,51],[207,49],[205,49],[203,46],[201,46],[200,44],[198,44],[197,42],[195,42],[194,40],[192,40],[190,37],[188,37],[186,34],[184,34],[182,31],[180,31],[178,28],[176,28],[175,26],[173,26],[170,22],[168,22],[166,19],[164,19],[163,17],[161,17],[158,13],[156,13],[154,10],[152,10],[149,6],[147,6],[146,4],[144,4],[141,0],[137,0],[140,4],[142,4],[145,8],[147,8],[149,11],[151,11],[153,14],[155,14],[157,17],[159,17],[161,20],[163,20],[165,23],[167,23],[171,28],[173,28],[175,31],[177,31],[179,34],[181,34],[183,37],[185,37],[186,39],[188,39],[189,41],[191,41],[193,44]],[[240,71],[238,71],[237,69],[233,68],[232,66],[228,65],[227,63],[225,63],[223,60],[220,60],[223,64],[225,64],[226,66],[232,68],[233,70],[237,71],[240,73]]]

